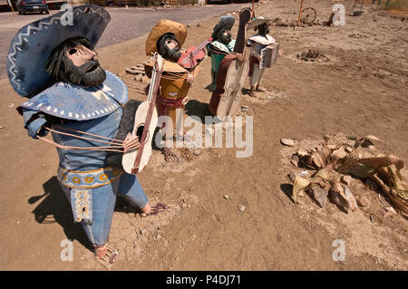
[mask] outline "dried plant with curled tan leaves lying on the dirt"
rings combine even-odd
[[[408,183],[401,174],[403,161],[394,155],[375,153],[374,143],[378,138],[368,135],[361,139],[346,136],[348,144],[321,145],[315,149],[298,149],[296,156],[306,169],[316,170],[312,178],[297,176],[294,179],[293,199],[297,202],[300,192],[305,190],[320,207],[325,206],[327,190],[340,207],[354,211],[357,206],[349,188],[338,182],[340,174],[357,178],[372,178],[389,197],[393,206],[408,215]],[[326,140],[327,141],[327,140]]]

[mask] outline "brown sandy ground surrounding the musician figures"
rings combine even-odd
[[[257,6],[257,15],[289,22],[299,1]],[[331,1],[307,1],[317,19],[328,18]],[[198,45],[218,17],[191,24],[185,47]],[[237,27],[234,28],[236,33]],[[334,204],[299,205],[287,196],[293,170],[280,139],[322,140],[344,132],[382,140],[386,152],[405,162],[407,149],[408,24],[368,7],[345,26],[271,27],[283,47],[265,73],[266,93],[243,96],[254,118],[254,151],[202,149],[199,156],[167,164],[153,151],[139,179],[151,202],[174,204],[157,217],[141,218],[123,201],[113,217],[111,244],[121,250],[116,270],[406,270],[407,220],[384,217],[377,193],[358,180],[351,187],[372,201],[345,214]],[[249,32],[251,34],[252,32]],[[126,67],[142,63],[146,35],[100,51],[103,67],[129,77]],[[327,63],[303,62],[296,53],[319,49]],[[117,55],[121,55],[118,57]],[[211,93],[209,59],[189,92],[186,115],[204,116]],[[58,187],[54,149],[27,137],[8,80],[0,80],[0,268],[3,270],[103,270]],[[248,88],[248,84],[247,84]],[[132,98],[141,94],[132,92]],[[228,195],[228,199],[224,196]],[[386,200],[384,200],[386,202]],[[245,206],[244,211],[238,206]],[[371,216],[371,217],[370,217]],[[63,262],[63,239],[73,239],[73,261]],[[345,241],[345,261],[334,262],[335,239]]]

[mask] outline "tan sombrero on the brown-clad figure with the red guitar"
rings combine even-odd
[[[179,41],[180,46],[182,46],[186,40],[187,27],[178,22],[161,19],[160,22],[151,29],[151,34],[149,34],[148,39],[146,40],[146,55],[151,55],[151,53],[157,52],[157,41],[163,34],[167,33],[174,34]]]

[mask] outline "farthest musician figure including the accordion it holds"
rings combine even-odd
[[[275,39],[268,35],[268,22],[270,19],[265,19],[260,16],[248,24],[247,29],[255,29],[257,34],[248,38],[248,44],[252,47],[249,57],[249,96],[255,96],[255,92],[264,92],[259,87],[262,82],[265,68],[270,68],[271,65],[277,62],[277,56],[281,53],[281,48]]]

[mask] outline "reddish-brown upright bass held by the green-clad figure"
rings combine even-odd
[[[239,28],[233,53],[228,54],[219,64],[217,88],[209,101],[209,111],[224,119],[233,116],[239,108],[241,90],[248,76],[249,53],[246,47],[246,25],[251,17],[251,9],[239,12]]]

